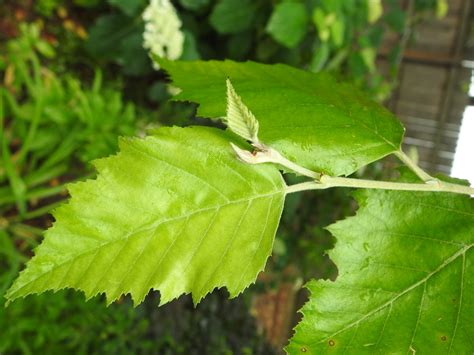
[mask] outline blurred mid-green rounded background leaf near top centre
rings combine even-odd
[[[278,43],[293,48],[306,34],[308,22],[306,8],[299,2],[282,2],[276,5],[266,31]]]

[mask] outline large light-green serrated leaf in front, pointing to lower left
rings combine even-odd
[[[216,287],[232,297],[255,281],[271,253],[285,183],[271,165],[240,162],[228,133],[161,128],[122,139],[95,162],[96,180],[73,184],[6,297],[75,288],[108,303],[150,289],[161,303]]]

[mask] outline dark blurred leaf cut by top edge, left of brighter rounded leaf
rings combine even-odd
[[[220,0],[212,10],[209,22],[219,33],[239,33],[251,27],[254,15],[253,0]]]

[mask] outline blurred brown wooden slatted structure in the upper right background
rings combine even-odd
[[[469,104],[467,88],[474,70],[473,2],[450,0],[446,17],[416,27],[415,41],[409,41],[403,52],[399,85],[389,102],[407,128],[405,143],[417,148],[420,165],[432,172],[449,174]],[[400,40],[392,37],[385,42],[389,47]],[[380,65],[384,61],[382,54]]]

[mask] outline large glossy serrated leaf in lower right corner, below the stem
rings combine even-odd
[[[288,351],[474,351],[474,199],[362,191],[357,215],[329,227],[335,282],[312,281]]]

